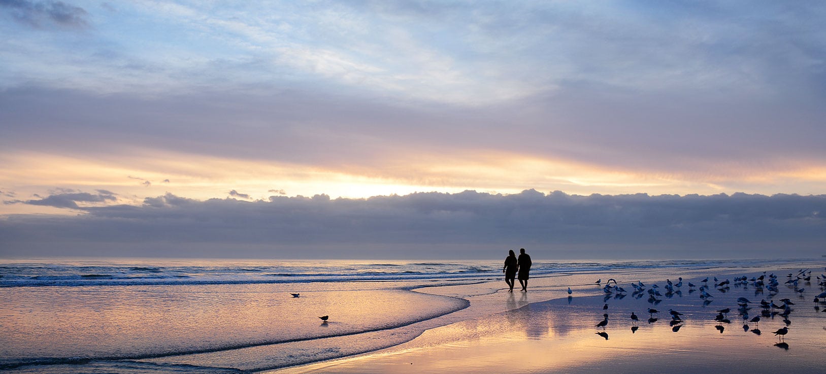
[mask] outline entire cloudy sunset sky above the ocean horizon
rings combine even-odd
[[[0,33],[0,256],[826,254],[821,2],[0,0]]]

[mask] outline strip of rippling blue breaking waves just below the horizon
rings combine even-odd
[[[534,277],[552,273],[612,271],[621,269],[704,269],[711,267],[748,267],[755,264],[784,264],[806,259],[737,259],[737,260],[624,260],[624,261],[556,261],[534,262]],[[263,261],[261,261],[263,263]],[[147,286],[244,283],[311,283],[355,281],[411,281],[417,279],[485,279],[498,276],[498,260],[450,262],[399,261],[392,264],[353,264],[346,261],[297,262],[250,266],[135,266],[105,264],[16,264],[0,267],[0,288],[78,287],[78,286]]]

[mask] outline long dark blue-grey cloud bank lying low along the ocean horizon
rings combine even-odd
[[[17,202],[74,208],[66,201],[109,194],[94,196]],[[542,260],[826,254],[826,195],[578,196],[531,189],[248,202],[166,194],[142,206],[82,210],[76,217],[0,221],[0,255],[496,259],[519,247]]]

